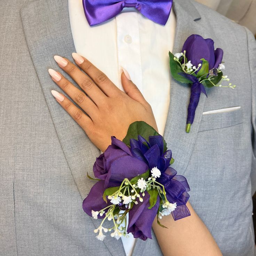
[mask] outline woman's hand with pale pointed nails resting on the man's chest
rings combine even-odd
[[[121,74],[121,81],[126,93],[118,89],[86,58],[77,53],[73,53],[72,56],[75,63],[86,74],[66,58],[54,56],[54,59],[59,67],[80,86],[81,90],[61,73],[52,69],[49,69],[49,73],[53,81],[87,115],[63,94],[54,90],[52,94],[98,149],[104,152],[111,144],[111,136],[122,140],[126,136],[129,125],[135,121],[145,121],[157,130],[151,106],[124,72]]]

